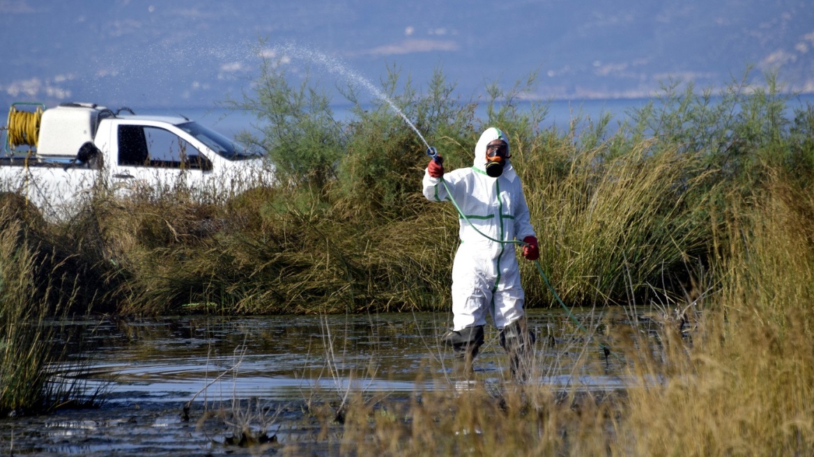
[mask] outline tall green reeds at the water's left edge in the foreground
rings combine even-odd
[[[77,301],[77,283],[67,291],[63,290],[65,277],[38,283],[42,252],[26,234],[30,220],[20,219],[15,211],[20,207],[15,208],[13,201],[4,203],[0,208],[0,415],[93,404],[98,390],[89,393],[81,381],[50,378],[55,367],[68,361],[66,350],[72,337],[64,319]],[[55,263],[53,252],[45,263]],[[71,366],[81,369],[81,363]]]

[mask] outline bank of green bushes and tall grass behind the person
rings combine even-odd
[[[262,137],[244,139],[274,161],[277,181],[226,197],[102,189],[74,220],[26,228],[42,240],[37,259],[66,278],[59,289],[94,311],[135,314],[446,309],[458,217],[423,198],[427,145],[402,115],[449,170],[470,167],[485,128],[510,136],[542,267],[570,304],[680,298],[698,268],[730,255],[733,198],[757,198],[777,176],[802,192],[814,176],[814,111],[788,120],[772,76],[766,89],[734,81],[718,95],[667,83],[660,104],[615,131],[609,114],[544,127],[545,103],[523,102],[535,73],[489,85],[478,119],[440,70],[417,89],[388,68],[371,107],[344,93],[355,106],[344,124],[309,76],[287,77],[265,61],[254,92],[232,102],[257,115]],[[554,304],[533,264],[521,268],[528,303]]]

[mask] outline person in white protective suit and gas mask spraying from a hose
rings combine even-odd
[[[432,202],[454,199],[469,220],[460,219],[461,244],[453,263],[453,329],[444,335],[444,343],[466,361],[464,367],[470,372],[472,359],[484,343],[489,314],[501,346],[510,355],[512,375],[525,379],[534,335],[524,318],[515,245],[484,237],[523,240],[526,259],[540,256],[520,178],[509,158],[508,137],[498,128],[487,128],[475,146],[471,168],[444,173],[440,156],[430,161],[423,193]]]

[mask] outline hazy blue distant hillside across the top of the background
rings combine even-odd
[[[814,7],[792,0],[0,0],[0,37],[4,106],[211,106],[248,88],[260,38],[341,59],[375,85],[388,65],[419,87],[441,67],[465,98],[533,71],[538,98],[646,97],[667,77],[720,87],[748,65],[814,93]],[[307,64],[342,84],[317,62],[287,63]]]

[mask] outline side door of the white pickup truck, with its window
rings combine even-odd
[[[114,184],[125,188],[149,186],[155,190],[177,185],[197,188],[212,162],[177,134],[150,125],[120,124],[116,132],[118,160]]]

